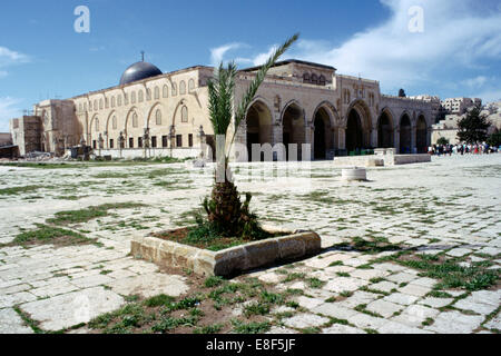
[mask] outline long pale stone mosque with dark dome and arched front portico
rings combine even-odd
[[[257,70],[238,72],[236,98]],[[63,155],[85,142],[112,157],[199,157],[202,147],[215,147],[207,87],[213,73],[204,66],[163,73],[137,62],[116,87],[41,101],[31,116],[12,119],[13,144],[21,155]],[[338,75],[333,67],[285,60],[269,70],[236,141],[249,148],[297,144],[299,150],[310,144],[312,159],[369,148],[421,154],[430,146],[432,123],[430,102],[382,95],[379,81]]]

